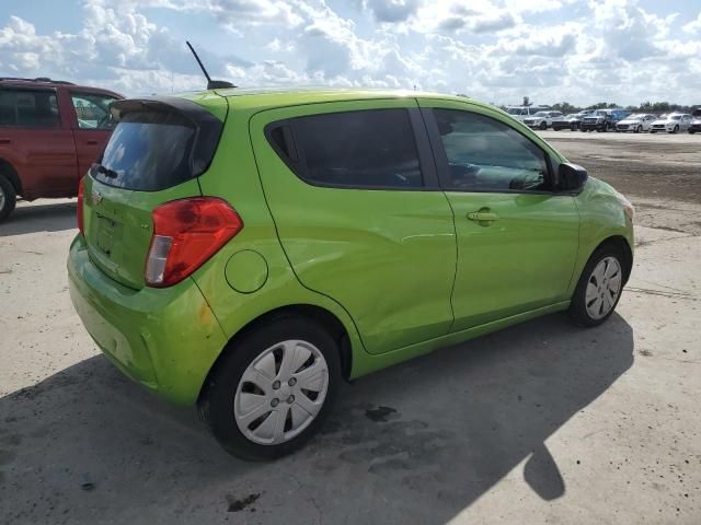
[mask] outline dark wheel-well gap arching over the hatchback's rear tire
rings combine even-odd
[[[287,317],[303,317],[307,319],[311,319],[321,328],[326,330],[329,335],[336,341],[338,346],[338,352],[341,357],[341,372],[343,377],[348,381],[350,377],[350,371],[353,369],[353,350],[349,340],[348,330],[346,329],[343,322],[332,312],[321,306],[317,306],[313,304],[289,304],[285,306],[280,306],[274,310],[271,310],[262,315],[250,320],[246,325],[244,325],[240,330],[238,330],[230,339],[227,341],[227,345],[223,347],[215,362],[211,364],[205,381],[199,390],[199,396],[202,396],[205,386],[208,384],[209,378],[214,371],[218,368],[219,363],[223,360],[223,357],[229,352],[235,351],[237,341],[241,340],[248,334],[261,328],[267,323],[272,323],[281,318]]]

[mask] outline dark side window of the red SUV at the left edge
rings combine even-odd
[[[0,126],[59,127],[56,92],[53,90],[0,89]]]

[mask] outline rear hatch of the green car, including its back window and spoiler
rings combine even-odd
[[[223,122],[174,97],[118,101],[112,110],[118,124],[84,180],[85,242],[104,273],[139,290],[152,211],[202,194],[197,177],[211,162]]]

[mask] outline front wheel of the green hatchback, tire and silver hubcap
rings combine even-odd
[[[572,296],[567,314],[579,326],[599,326],[608,319],[623,290],[624,259],[621,248],[604,245],[587,261]]]

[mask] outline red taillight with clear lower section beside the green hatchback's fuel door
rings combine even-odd
[[[195,197],[153,210],[153,236],[146,260],[147,285],[173,285],[204,265],[243,228],[223,200]]]

